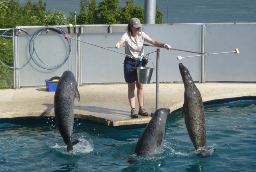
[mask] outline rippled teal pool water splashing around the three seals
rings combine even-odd
[[[200,158],[181,111],[168,115],[166,135],[156,152],[134,155],[141,129],[118,130],[75,119],[73,152],[53,117],[1,121],[0,170],[33,172],[188,171],[252,172],[256,169],[256,100],[205,106],[206,144],[210,157]],[[128,163],[132,160],[133,163]]]

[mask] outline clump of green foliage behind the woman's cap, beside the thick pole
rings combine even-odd
[[[80,11],[76,15],[76,24],[127,24],[131,18],[140,19],[144,23],[144,8],[134,6],[134,0],[127,0],[126,6],[119,7],[120,0],[80,0]],[[163,23],[163,14],[157,10],[156,23]],[[70,11],[69,23],[75,24],[74,11]]]

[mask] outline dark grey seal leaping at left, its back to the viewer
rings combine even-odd
[[[60,135],[66,145],[68,145],[67,151],[72,151],[73,145],[76,145],[79,142],[78,140],[72,142],[75,98],[78,101],[80,100],[76,79],[74,74],[67,70],[60,77],[54,95],[56,124],[60,131]]]

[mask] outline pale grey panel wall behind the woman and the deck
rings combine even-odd
[[[201,38],[201,28],[205,25],[205,37]],[[111,26],[111,29],[110,29]],[[123,74],[124,48],[102,47],[114,46],[126,31],[127,25],[81,25],[80,54],[82,83],[125,82]],[[42,27],[24,27],[31,30],[31,35]],[[75,30],[67,26],[64,29],[71,38],[76,38]],[[33,30],[33,31],[32,31]],[[111,33],[110,33],[111,30]],[[201,41],[205,40],[205,53],[221,53],[239,49],[240,54],[226,53],[205,56],[205,78],[207,81],[255,82],[256,81],[256,23],[190,23],[190,24],[145,24],[142,28],[152,39],[167,43],[174,49],[201,51]],[[79,31],[80,32],[80,31]],[[29,59],[28,45],[30,37],[18,35],[18,64],[24,65]],[[63,34],[40,34],[35,40],[38,56],[49,65],[64,61],[68,55],[68,44]],[[84,43],[86,42],[86,43]],[[90,45],[90,44],[93,45]],[[32,60],[19,69],[20,86],[44,85],[44,79],[61,76],[65,70],[71,70],[78,77],[76,41],[71,40],[72,53],[63,66],[55,70],[46,70],[37,66]],[[144,47],[145,55],[156,66],[156,47]],[[116,51],[116,52],[113,52]],[[117,53],[119,52],[119,53]],[[178,61],[182,57],[197,55],[183,51],[160,49],[160,81],[182,81],[178,68],[183,63],[188,68],[194,81],[200,78],[200,57],[191,57]],[[43,65],[36,55],[38,64]],[[148,67],[153,67],[151,61]],[[155,81],[156,69],[152,80]]]

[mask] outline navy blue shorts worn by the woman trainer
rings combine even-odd
[[[131,82],[135,82],[136,80],[138,80],[136,67],[140,67],[140,66],[142,66],[142,61],[133,62],[133,61],[128,60],[127,58],[124,59],[125,82],[131,83]]]

